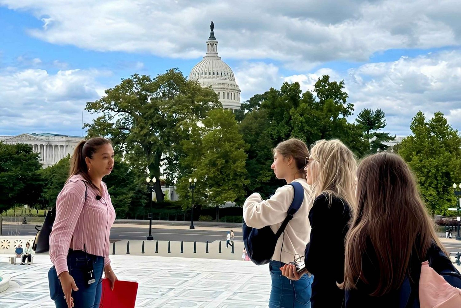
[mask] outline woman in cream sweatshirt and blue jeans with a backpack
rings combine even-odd
[[[243,205],[243,219],[250,228],[261,229],[270,226],[276,234],[288,216],[287,212],[295,197],[295,188],[290,183],[297,182],[302,188],[302,203],[293,218],[278,237],[274,253],[269,261],[272,279],[269,308],[309,308],[311,307],[311,284],[313,276],[304,275],[297,281],[284,277],[280,268],[290,262],[302,262],[304,248],[309,242],[311,227],[307,213],[313,201],[312,187],[307,184],[306,166],[309,150],[299,139],[281,142],[273,151],[274,162],[271,169],[278,179],[284,179],[287,185],[279,187],[269,198],[262,199],[259,193],[250,195]],[[271,249],[272,250],[272,249]],[[247,253],[251,253],[249,250]],[[270,252],[272,253],[272,251]],[[325,251],[323,251],[325,254]],[[251,255],[249,255],[251,258]]]

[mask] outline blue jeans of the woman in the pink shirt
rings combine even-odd
[[[69,250],[67,255],[67,267],[69,273],[77,284],[78,291],[72,291],[74,298],[74,307],[76,308],[99,308],[102,292],[102,272],[104,270],[104,258],[87,254],[81,250]],[[95,280],[93,284],[87,285],[84,281],[83,270],[88,264],[93,263],[95,271]],[[61,287],[61,282],[58,279],[54,266],[48,271],[48,283],[50,285],[50,296],[54,301],[56,308],[67,308],[67,303],[64,299],[64,292]]]

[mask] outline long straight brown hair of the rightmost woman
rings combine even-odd
[[[432,241],[443,249],[416,180],[402,157],[383,152],[366,157],[357,170],[357,210],[346,236],[344,284],[377,277],[371,296],[397,290],[409,274],[412,251],[424,260]],[[371,243],[372,247],[366,247]],[[374,249],[378,272],[363,272],[362,257]]]

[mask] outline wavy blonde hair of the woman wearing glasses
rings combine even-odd
[[[354,153],[337,139],[319,140],[311,149],[312,161],[319,172],[313,183],[316,196],[326,194],[346,201],[352,212],[355,209],[355,174],[357,162]]]

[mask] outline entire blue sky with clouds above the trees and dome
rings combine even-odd
[[[460,16],[459,0],[0,0],[0,135],[82,135],[121,78],[187,76],[211,20],[242,100],[329,74],[398,136],[419,110],[461,130]]]

